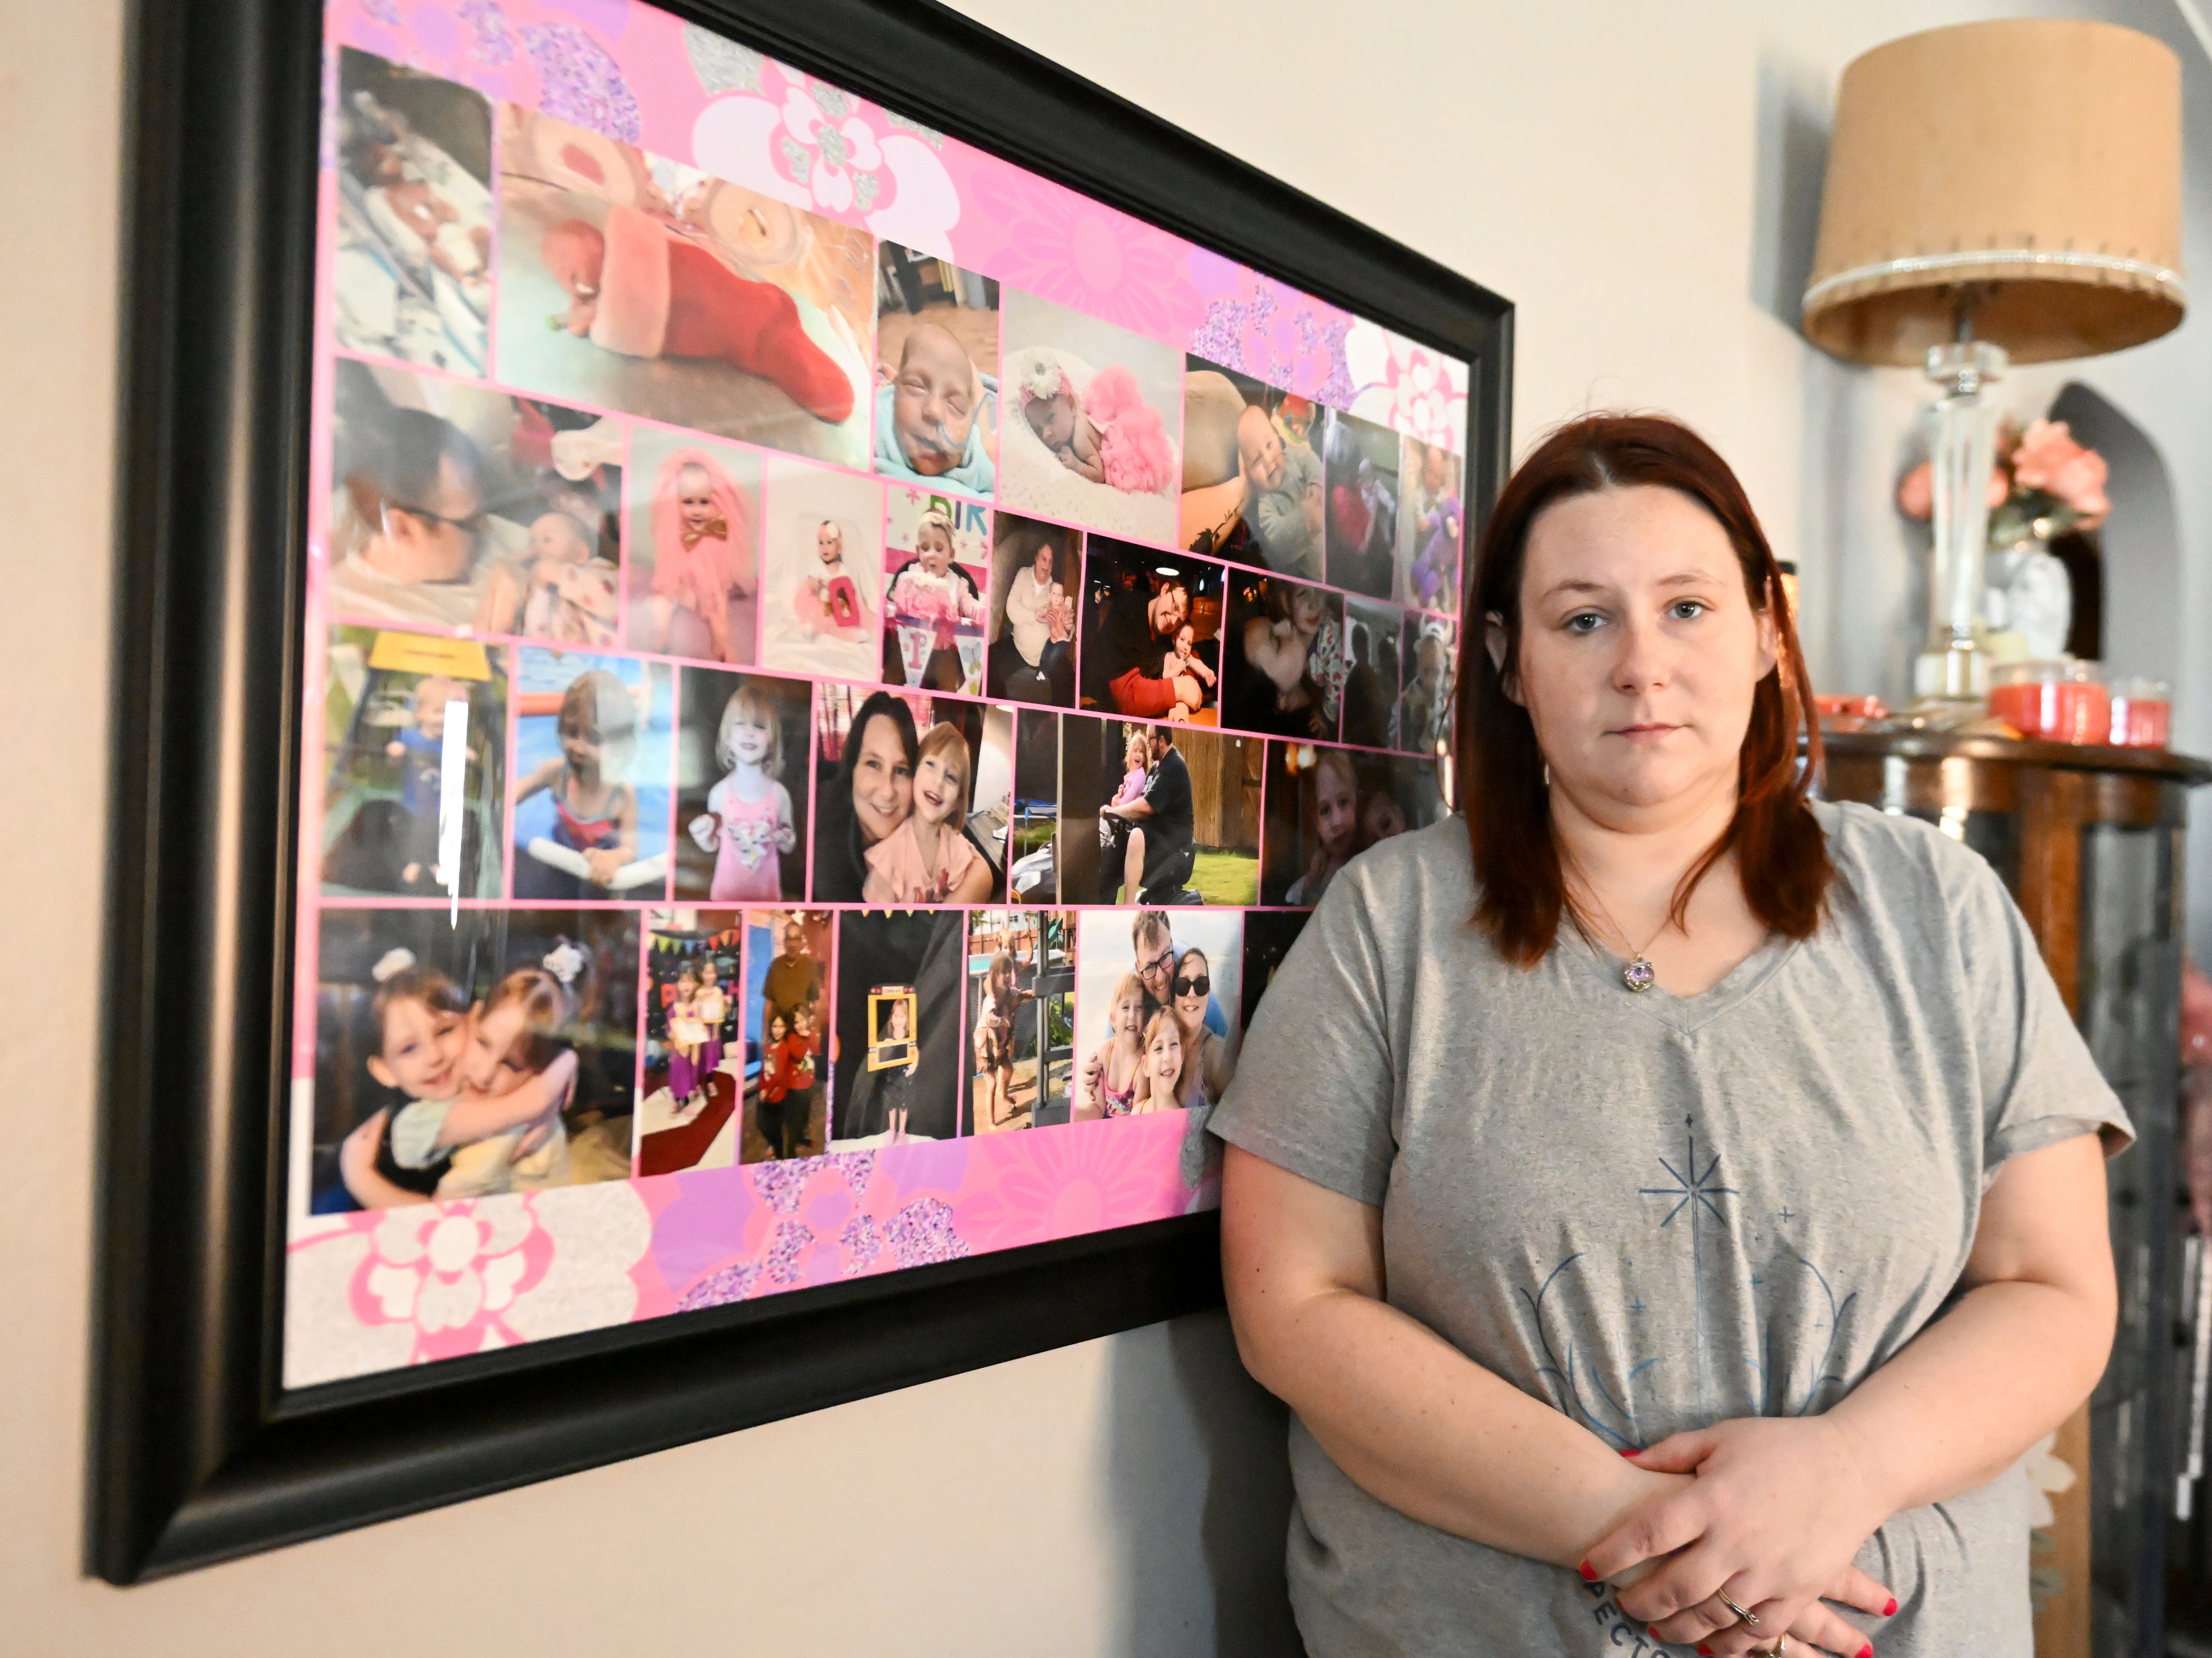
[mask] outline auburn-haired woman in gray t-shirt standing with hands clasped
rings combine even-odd
[[[1475,612],[1464,827],[1332,882],[1214,1112],[1310,1649],[2024,1658],[2015,1463],[2104,1368],[2128,1121],[2020,911],[1807,798],[1774,555],[1683,427],[1553,433]]]

